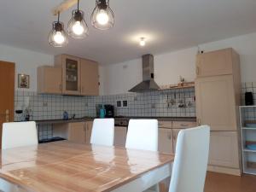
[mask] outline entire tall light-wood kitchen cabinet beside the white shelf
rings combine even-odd
[[[240,174],[238,106],[241,102],[239,55],[222,49],[197,55],[195,108],[199,125],[210,125],[208,169]]]

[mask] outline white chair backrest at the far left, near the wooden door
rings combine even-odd
[[[34,121],[3,123],[3,149],[29,145],[38,145],[38,131]]]

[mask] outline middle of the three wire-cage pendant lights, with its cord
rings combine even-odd
[[[72,11],[72,18],[67,24],[67,33],[72,38],[85,38],[88,36],[88,26],[84,20],[84,11],[78,9]]]

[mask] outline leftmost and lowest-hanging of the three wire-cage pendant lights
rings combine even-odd
[[[49,32],[49,44],[54,47],[64,47],[67,45],[67,33],[64,31],[64,24],[60,22],[60,13],[58,13],[58,21],[52,23],[52,30]]]

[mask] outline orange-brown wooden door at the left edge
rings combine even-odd
[[[14,121],[15,116],[15,63],[0,61],[0,147],[2,125]]]

